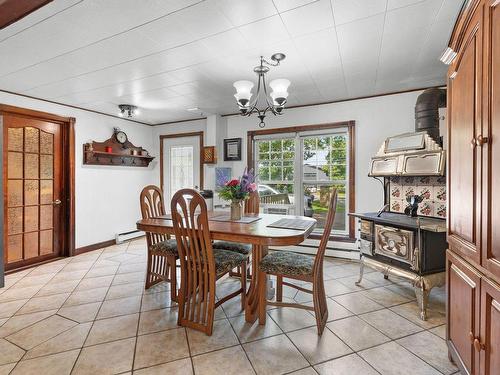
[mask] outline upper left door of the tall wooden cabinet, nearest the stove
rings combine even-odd
[[[448,82],[448,241],[450,248],[480,263],[482,14],[476,9]]]

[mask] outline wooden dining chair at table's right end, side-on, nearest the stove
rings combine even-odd
[[[258,276],[260,324],[266,322],[266,305],[295,307],[314,311],[318,335],[323,333],[328,319],[328,307],[323,282],[323,260],[333,220],[335,219],[336,204],[337,189],[334,189],[330,199],[325,229],[316,256],[303,255],[291,251],[274,251],[264,256],[260,261]],[[276,276],[276,302],[267,300],[267,275]],[[312,283],[312,290],[283,281],[284,278],[310,282]],[[313,306],[283,302],[283,285],[312,294]]]

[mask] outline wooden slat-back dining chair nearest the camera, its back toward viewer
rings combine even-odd
[[[171,202],[172,223],[181,264],[177,324],[212,334],[215,309],[241,295],[245,307],[246,274],[240,289],[215,301],[216,281],[233,268],[246,269],[248,255],[215,249],[208,226],[207,204],[193,189],[177,191]]]

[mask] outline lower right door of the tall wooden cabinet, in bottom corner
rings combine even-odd
[[[500,286],[481,280],[481,374],[500,370]]]

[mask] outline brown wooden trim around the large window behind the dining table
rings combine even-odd
[[[261,130],[249,130],[247,132],[247,167],[251,169],[255,165],[253,154],[253,142],[255,136],[281,134],[281,133],[299,133],[303,131],[314,130],[329,130],[338,128],[347,128],[349,136],[349,212],[356,211],[356,133],[355,133],[354,120],[332,122],[326,124],[313,124],[313,125],[297,125],[282,128],[269,128]],[[349,236],[345,237],[345,241],[352,241],[355,237],[355,222],[354,217],[349,217]],[[314,235],[313,235],[314,236]],[[332,240],[339,240],[339,236],[331,236]]]

